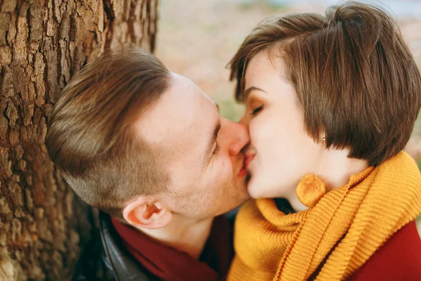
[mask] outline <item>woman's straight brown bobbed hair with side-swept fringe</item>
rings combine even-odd
[[[269,50],[283,59],[305,129],[328,147],[377,166],[401,151],[420,110],[421,78],[396,22],[382,8],[350,1],[314,13],[268,18],[230,61],[236,99],[246,67]],[[272,55],[271,55],[272,57]]]

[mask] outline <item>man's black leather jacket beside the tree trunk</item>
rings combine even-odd
[[[72,281],[157,281],[121,244],[109,215],[100,212],[100,229],[79,259]]]

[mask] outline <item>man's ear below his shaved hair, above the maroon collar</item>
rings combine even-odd
[[[156,229],[167,226],[173,214],[161,204],[150,202],[147,197],[138,197],[124,207],[123,217],[132,226]]]

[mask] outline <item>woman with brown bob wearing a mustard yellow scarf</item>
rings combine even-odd
[[[421,77],[389,15],[348,2],[269,18],[230,65],[255,200],[228,280],[421,280],[421,175],[402,152]]]

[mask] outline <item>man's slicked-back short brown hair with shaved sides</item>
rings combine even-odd
[[[46,147],[82,200],[121,219],[124,202],[166,190],[160,150],[135,136],[133,123],[170,82],[154,55],[130,46],[107,51],[62,90]]]

